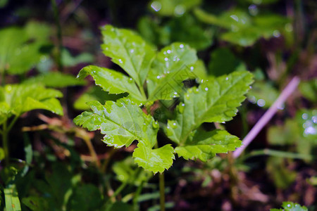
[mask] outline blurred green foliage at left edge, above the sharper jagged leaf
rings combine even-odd
[[[34,22],[0,30],[0,72],[23,74],[39,63],[45,55],[41,48],[49,44],[49,32],[47,25]]]

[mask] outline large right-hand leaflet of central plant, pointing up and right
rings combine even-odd
[[[232,120],[251,82],[251,73],[239,71],[211,77],[198,88],[188,89],[184,103],[177,107],[176,119],[168,120],[168,138],[181,145],[203,122]]]

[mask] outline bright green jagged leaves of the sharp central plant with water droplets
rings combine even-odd
[[[106,101],[104,105],[87,102],[91,110],[75,117],[75,124],[89,131],[100,129],[105,135],[102,141],[115,148],[128,147],[137,140],[132,156],[140,167],[154,174],[168,170],[175,153],[187,160],[206,161],[216,153],[234,151],[241,145],[236,136],[225,130],[207,132],[201,124],[232,120],[252,82],[251,73],[239,71],[204,78],[204,65],[187,44],[173,43],[156,51],[130,30],[106,25],[102,34],[104,54],[128,76],[90,65],[80,70],[77,77],[91,75],[109,94],[129,95],[116,102]],[[183,82],[195,78],[199,78],[199,86],[185,89]],[[151,115],[159,101],[175,98],[180,101],[174,110],[175,119],[167,124],[154,120]],[[157,140],[160,127],[175,147],[161,146]]]

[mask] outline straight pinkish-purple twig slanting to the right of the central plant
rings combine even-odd
[[[259,122],[256,122],[254,127],[251,129],[249,134],[245,136],[245,138],[242,141],[242,147],[238,148],[233,153],[233,158],[237,158],[240,156],[240,154],[244,151],[245,148],[253,141],[253,139],[259,134],[261,129],[268,124],[268,121],[271,120],[273,115],[278,111],[278,108],[282,106],[282,103],[286,101],[286,99],[293,93],[295,89],[297,89],[297,86],[299,84],[299,78],[294,77],[292,81],[287,84],[287,87],[282,91],[280,96],[278,96],[278,99],[273,103],[273,105],[266,111],[266,113],[261,117]]]

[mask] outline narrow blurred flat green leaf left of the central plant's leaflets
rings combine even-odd
[[[76,79],[73,75],[61,72],[49,72],[47,74],[31,77],[23,82],[23,84],[43,84],[45,87],[71,87],[85,85],[85,81]]]

